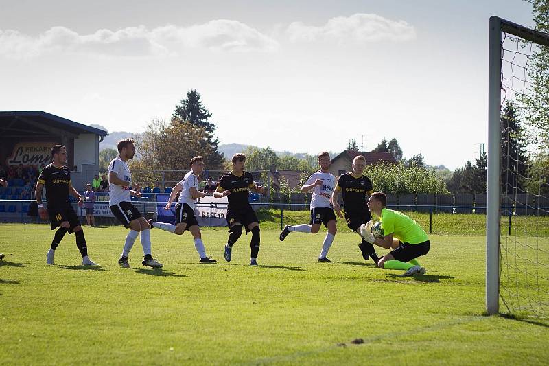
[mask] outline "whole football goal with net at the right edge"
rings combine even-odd
[[[549,317],[549,34],[492,17],[487,312]]]

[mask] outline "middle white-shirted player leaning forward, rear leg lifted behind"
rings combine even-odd
[[[161,230],[170,231],[170,233],[175,233],[177,235],[182,235],[185,233],[185,230],[191,231],[194,238],[194,247],[200,255],[200,262],[216,263],[216,260],[213,260],[206,255],[206,249],[204,248],[204,243],[202,242],[200,227],[198,226],[198,221],[196,220],[196,216],[194,214],[194,204],[196,203],[196,198],[206,196],[204,192],[198,191],[198,175],[202,174],[202,170],[204,170],[204,162],[202,161],[202,157],[198,156],[192,158],[191,171],[185,174],[185,178],[183,178],[176,184],[175,187],[172,188],[172,193],[170,194],[170,198],[168,198],[164,209],[170,209],[176,195],[178,192],[181,192],[176,205],[176,225],[152,220],[149,220],[149,224],[151,227],[157,227]]]

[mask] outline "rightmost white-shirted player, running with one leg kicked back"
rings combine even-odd
[[[310,190],[313,191],[311,198],[311,222],[309,222],[309,225],[286,225],[280,233],[280,240],[284,240],[292,231],[316,234],[320,230],[320,224],[323,224],[327,227],[328,233],[324,238],[318,262],[331,262],[326,255],[338,231],[336,227],[336,214],[334,214],[334,209],[330,205],[331,194],[336,185],[336,177],[329,172],[330,155],[327,152],[320,152],[318,155],[318,164],[320,165],[320,170],[314,172],[303,187],[301,187],[301,192],[303,193]]]

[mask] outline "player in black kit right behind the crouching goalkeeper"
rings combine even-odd
[[[331,196],[331,204],[334,206],[334,211],[336,211],[336,214],[340,218],[343,218],[341,206],[338,204],[338,195],[342,192],[347,226],[349,229],[355,231],[355,233],[358,233],[358,235],[360,235],[360,225],[366,224],[372,219],[366,203],[370,194],[373,193],[373,187],[370,179],[362,174],[364,165],[366,165],[366,159],[362,155],[355,157],[353,159],[353,172],[342,174],[339,177],[338,183],[334,188],[334,194]],[[365,260],[372,258],[377,264],[379,257],[377,257],[372,244],[362,238],[362,242],[358,244],[358,247]]]

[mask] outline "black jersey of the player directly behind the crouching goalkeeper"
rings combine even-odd
[[[361,174],[355,178],[353,173],[342,174],[338,179],[338,186],[341,188],[345,212],[349,214],[369,212],[366,197],[373,191],[373,187],[367,176]]]

